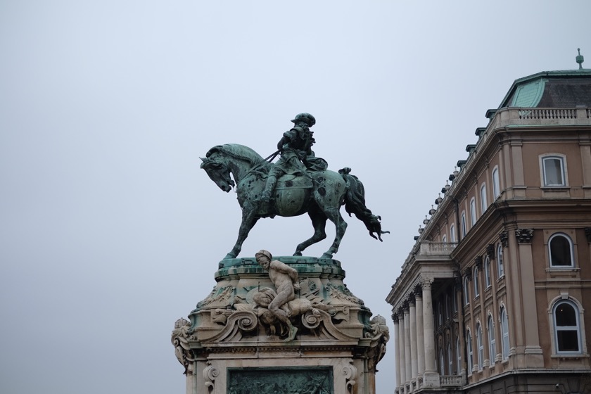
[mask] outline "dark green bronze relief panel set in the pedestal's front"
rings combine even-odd
[[[227,394],[334,394],[332,367],[229,368]]]

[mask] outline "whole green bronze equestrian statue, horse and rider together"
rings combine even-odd
[[[349,174],[350,168],[326,170],[326,161],[311,151],[314,139],[310,127],[316,122],[314,117],[303,113],[292,122],[295,127],[279,141],[277,153],[281,153],[281,159],[276,165],[239,144],[214,146],[201,158],[201,168],[220,189],[229,192],[236,186],[242,208],[238,239],[225,259],[239,255],[250,229],[262,217],[304,213],[310,216],[314,234],[295,248],[294,256],[301,256],[305,248],[325,239],[326,221],[330,220],[336,227],[336,236],[322,258],[332,258],[347,228],[339,212],[342,205],[349,215],[365,224],[373,238],[381,241],[381,234],[388,232],[382,231],[381,218],[365,206],[363,184]]]

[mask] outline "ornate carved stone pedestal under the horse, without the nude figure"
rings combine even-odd
[[[255,258],[222,260],[217,285],[172,331],[187,394],[373,394],[388,327],[343,283],[332,259],[275,257],[298,271],[293,341],[257,294],[274,290]],[[254,298],[254,299],[253,299]]]

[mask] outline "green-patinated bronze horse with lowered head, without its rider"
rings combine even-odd
[[[305,248],[325,239],[326,220],[330,220],[336,227],[336,236],[322,258],[332,258],[347,229],[347,223],[339,211],[341,205],[345,205],[349,216],[354,214],[364,222],[369,235],[374,239],[381,241],[381,234],[389,232],[381,230],[381,218],[372,215],[371,210],[365,206],[363,184],[357,177],[349,174],[350,168],[344,168],[338,173],[326,170],[298,176],[284,175],[277,182],[272,203],[263,211],[260,195],[265,189],[267,173],[272,163],[264,160],[248,146],[239,144],[214,146],[201,160],[201,168],[220,189],[229,192],[236,185],[242,208],[238,239],[224,259],[236,258],[248,232],[261,217],[289,217],[307,212],[314,226],[314,235],[295,248],[294,256],[301,256]]]

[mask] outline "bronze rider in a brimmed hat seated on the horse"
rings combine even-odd
[[[315,141],[310,127],[316,124],[316,119],[309,113],[300,113],[291,122],[294,123],[293,128],[284,132],[277,143],[281,158],[269,170],[267,184],[261,194],[264,210],[268,209],[277,179],[282,174],[305,175],[306,171],[324,171],[328,167],[326,160],[317,158],[312,151]]]

